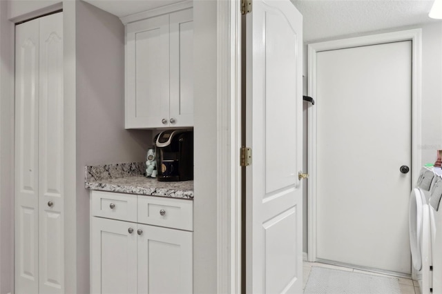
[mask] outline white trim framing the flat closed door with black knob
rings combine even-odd
[[[308,46],[308,95],[316,98],[316,53],[325,50],[412,41],[412,182],[419,177],[421,166],[421,97],[422,97],[422,30],[403,30],[380,35],[369,35],[350,39],[312,43]],[[320,101],[319,101],[320,103]],[[308,112],[308,260],[316,260],[316,107]]]

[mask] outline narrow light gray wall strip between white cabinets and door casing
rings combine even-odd
[[[216,1],[193,3],[194,153],[193,285],[195,293],[216,293]]]

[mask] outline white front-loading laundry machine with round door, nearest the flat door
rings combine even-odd
[[[430,168],[422,168],[416,188],[410,193],[409,228],[412,264],[422,294],[431,293],[432,248],[430,228],[430,190],[437,177]],[[440,178],[439,178],[440,179]],[[442,184],[442,183],[441,183]]]

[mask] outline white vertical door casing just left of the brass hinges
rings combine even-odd
[[[217,2],[217,292],[241,292],[240,1]]]

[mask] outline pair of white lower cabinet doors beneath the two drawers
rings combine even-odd
[[[193,293],[193,233],[91,218],[92,293]]]

